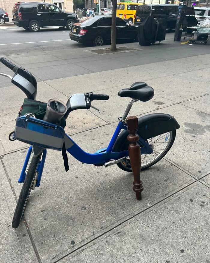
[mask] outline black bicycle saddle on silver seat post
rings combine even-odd
[[[140,101],[149,101],[154,96],[154,89],[144,82],[135,82],[128,89],[121,89],[118,92],[120,97],[138,99]]]

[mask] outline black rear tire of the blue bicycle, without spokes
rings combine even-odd
[[[149,163],[148,165],[144,166],[143,168],[141,167],[141,171],[144,171],[144,170],[148,169],[149,167],[151,167],[152,165],[155,165],[155,164],[156,164],[157,162],[159,162],[159,161],[168,153],[168,151],[171,149],[171,147],[172,147],[172,145],[173,145],[173,143],[174,143],[174,140],[175,140],[175,138],[176,138],[176,130],[172,130],[172,131],[170,131],[170,132],[172,132],[172,138],[171,138],[170,143],[169,143],[169,144],[167,145],[167,147],[165,148],[164,153],[163,153],[161,156],[157,157],[157,159],[155,159],[153,162]],[[123,147],[123,144],[122,144],[122,147]],[[141,155],[141,158],[142,158],[142,156],[143,156],[143,155]],[[118,166],[120,169],[122,169],[123,171],[132,172],[131,167],[126,167],[125,165],[123,165],[122,162],[117,163],[117,166]]]

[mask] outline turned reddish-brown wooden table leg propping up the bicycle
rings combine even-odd
[[[136,192],[136,198],[137,200],[142,199],[142,181],[140,179],[140,173],[141,173],[141,152],[140,152],[140,146],[137,144],[137,141],[139,140],[139,135],[137,134],[138,130],[138,118],[137,116],[129,116],[127,118],[127,127],[128,127],[128,141],[130,142],[128,151],[129,151],[129,157],[131,162],[131,168],[134,175],[134,186],[133,190]]]

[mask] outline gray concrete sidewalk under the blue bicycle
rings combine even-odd
[[[61,153],[48,150],[41,186],[15,230],[17,180],[28,146],[7,137],[24,94],[1,82],[0,262],[210,262],[209,44],[123,45],[133,51],[97,55],[89,47],[8,56],[37,77],[37,100],[110,95],[94,101],[101,113],[74,111],[67,119],[67,134],[90,153],[110,141],[129,101],[117,93],[135,81],[152,86],[155,96],[135,103],[131,114],[169,113],[180,129],[166,157],[141,173],[141,201],[132,174],[116,165],[85,165],[69,156],[65,173]],[[0,71],[11,74],[3,65]]]

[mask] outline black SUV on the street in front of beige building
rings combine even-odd
[[[67,13],[57,5],[42,2],[18,2],[12,10],[13,23],[31,32],[38,32],[40,27],[71,29],[73,23],[79,22],[77,14]]]

